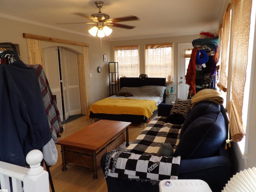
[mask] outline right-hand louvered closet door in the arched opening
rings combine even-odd
[[[62,62],[64,60],[64,62]],[[66,114],[66,105],[69,107],[70,115],[81,114],[80,89],[78,78],[77,54],[66,48],[60,48],[60,64],[62,71],[62,86],[64,95],[64,79],[66,80],[65,89],[67,96],[64,96],[64,106]],[[66,97],[68,98],[66,101]],[[66,115],[65,115],[66,116]]]

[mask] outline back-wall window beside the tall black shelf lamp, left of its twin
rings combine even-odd
[[[115,61],[118,62],[119,77],[138,77],[138,46],[116,46],[114,48]]]

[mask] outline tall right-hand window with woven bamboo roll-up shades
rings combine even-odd
[[[224,15],[220,30],[221,69],[218,87],[226,91],[233,141],[242,140],[246,131],[247,112],[250,109],[248,101],[255,9],[252,0],[234,0]],[[244,140],[242,141],[239,145],[244,153]]]

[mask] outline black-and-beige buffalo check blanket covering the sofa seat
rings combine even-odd
[[[161,142],[170,143],[175,152],[180,141],[181,125],[165,123],[165,119],[166,117],[160,116],[151,120],[136,140],[126,148],[126,152],[156,155]]]

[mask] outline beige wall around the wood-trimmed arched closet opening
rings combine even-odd
[[[103,55],[106,54],[108,58],[110,58],[110,42],[102,39],[101,47],[99,38],[91,38],[90,36],[72,34],[6,18],[0,18],[0,22],[4,25],[4,30],[2,30],[3,28],[1,28],[0,31],[0,42],[12,42],[13,44],[19,44],[20,57],[24,63],[28,63],[28,49],[26,38],[23,38],[22,35],[23,33],[89,44],[89,73],[92,74],[92,78],[90,78],[91,102],[95,102],[109,95],[108,61],[103,62]],[[42,48],[48,46],[63,46],[76,50],[76,52],[82,53],[82,48],[74,45],[42,41],[40,42],[40,45]],[[102,67],[101,73],[98,73],[97,71],[98,66]]]

